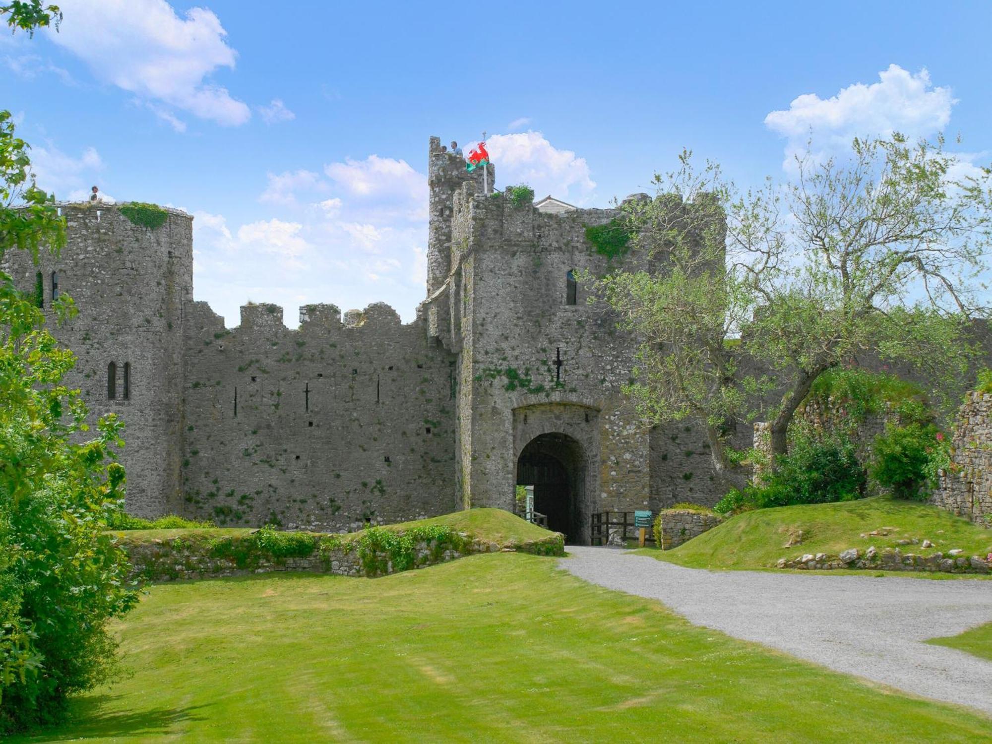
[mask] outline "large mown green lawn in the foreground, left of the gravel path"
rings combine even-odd
[[[155,586],[119,632],[133,675],[12,742],[992,740],[522,554]]]

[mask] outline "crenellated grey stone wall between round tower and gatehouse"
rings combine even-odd
[[[186,325],[184,513],[219,524],[319,531],[456,507],[454,356],[423,314],[376,304],[241,309],[205,303]]]

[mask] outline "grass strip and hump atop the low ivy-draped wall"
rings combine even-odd
[[[407,530],[413,527],[426,527],[429,525],[446,525],[455,532],[467,533],[473,538],[489,540],[500,545],[541,540],[551,535],[547,530],[532,525],[530,522],[503,509],[470,509],[445,514],[432,519],[422,519],[416,522],[400,522],[395,525],[384,525],[384,527],[387,530]],[[175,540],[176,538],[209,540],[217,537],[236,537],[247,535],[252,532],[252,529],[243,527],[218,527],[177,530],[121,530],[114,532],[123,542],[145,542],[149,540]],[[351,536],[360,534],[350,533]]]

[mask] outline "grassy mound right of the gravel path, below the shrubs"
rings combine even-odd
[[[885,536],[861,535],[895,528]],[[802,533],[802,535],[801,535]],[[933,548],[900,546],[930,540]],[[799,542],[797,542],[799,541]],[[794,543],[786,547],[788,543]],[[900,548],[930,555],[959,548],[965,556],[992,552],[992,530],[982,529],[929,504],[876,496],[836,504],[804,504],[744,512],[672,551],[652,552],[694,568],[767,568],[800,554],[837,555],[848,548]]]

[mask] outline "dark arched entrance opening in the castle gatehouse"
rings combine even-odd
[[[558,432],[535,436],[517,458],[517,485],[534,486],[534,510],[573,545],[589,542],[587,468],[581,443]]]

